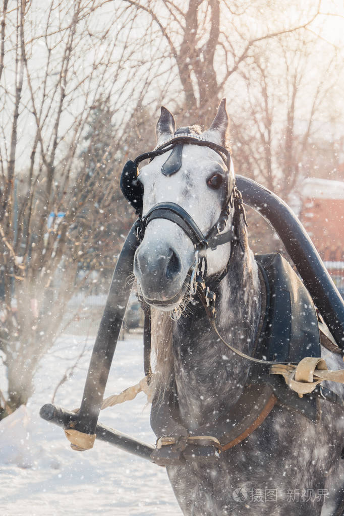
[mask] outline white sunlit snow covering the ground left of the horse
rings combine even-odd
[[[142,336],[119,342],[105,396],[119,393],[143,376]],[[58,390],[55,404],[79,406],[94,340],[78,366]],[[84,337],[64,335],[43,359],[35,379],[36,391],[0,423],[1,516],[176,516],[181,514],[164,468],[96,441],[92,450],[70,448],[63,430],[39,417],[52,401],[65,370],[79,356]],[[100,422],[154,443],[150,406],[140,393],[133,401],[101,412]]]

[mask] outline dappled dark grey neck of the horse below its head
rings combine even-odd
[[[216,324],[224,340],[250,354],[260,314],[257,265],[251,251],[233,253],[230,268],[216,285]],[[217,410],[234,405],[248,376],[248,362],[221,343],[206,313],[197,308],[173,325],[173,369],[184,424],[190,429]]]

